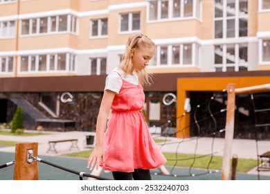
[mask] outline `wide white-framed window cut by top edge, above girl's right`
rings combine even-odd
[[[194,7],[194,8],[193,8]],[[201,0],[158,0],[149,2],[149,20],[200,18]]]

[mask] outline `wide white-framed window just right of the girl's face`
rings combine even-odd
[[[151,62],[150,65],[197,66],[198,58],[199,45],[195,43],[157,46],[156,63]]]

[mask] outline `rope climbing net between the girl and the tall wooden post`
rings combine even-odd
[[[170,166],[171,170],[167,173],[154,173],[159,175],[169,175],[174,177],[195,177],[217,173],[219,170],[211,169],[214,155],[221,155],[222,147],[216,148],[215,138],[224,137],[226,123],[226,105],[224,96],[226,92],[215,93],[213,96],[199,105],[190,104],[188,112],[184,112],[176,122],[179,123],[179,130],[176,130],[173,121],[164,123],[165,130],[160,134],[152,133],[153,139],[157,142],[161,152],[164,153],[167,163],[165,166]],[[219,104],[217,106],[217,104]],[[217,107],[219,109],[217,109]],[[181,119],[185,116],[190,116],[190,125],[181,125]],[[191,138],[185,136],[186,130],[190,130]],[[181,134],[182,138],[176,138],[176,134]],[[207,143],[206,143],[207,141]],[[204,145],[201,145],[204,142]],[[208,148],[201,150],[201,147],[207,144]],[[187,150],[189,150],[187,152]],[[192,154],[190,153],[192,150]],[[201,160],[203,159],[203,160]],[[196,167],[198,162],[204,161],[204,169],[198,170]],[[179,170],[177,166],[186,166],[186,170]]]

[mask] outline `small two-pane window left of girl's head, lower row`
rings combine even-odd
[[[90,59],[90,75],[106,75],[107,58]]]

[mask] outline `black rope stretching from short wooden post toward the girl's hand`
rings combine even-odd
[[[63,166],[59,166],[57,164],[53,164],[53,163],[51,163],[49,161],[45,161],[44,159],[40,159],[38,157],[33,157],[32,155],[30,155],[30,157],[32,157],[36,161],[42,162],[44,164],[48,164],[48,165],[53,166],[55,168],[60,168],[61,170],[65,170],[65,171],[67,171],[69,173],[73,173],[75,175],[79,175],[80,176],[80,180],[82,180],[82,177],[91,177],[91,178],[99,179],[99,180],[110,180],[110,179],[107,179],[107,178],[104,178],[104,177],[98,177],[98,176],[95,176],[95,175],[90,175],[90,174],[87,174],[87,173],[84,173],[84,172],[78,172],[78,171],[75,171],[75,170],[72,170],[72,169],[69,169],[69,168],[65,168]]]

